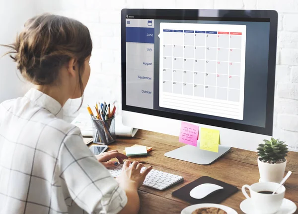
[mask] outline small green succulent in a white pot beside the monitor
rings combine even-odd
[[[288,145],[274,138],[264,142],[257,148],[260,182],[280,183],[286,170]]]

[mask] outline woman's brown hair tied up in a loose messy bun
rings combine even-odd
[[[6,54],[17,63],[21,75],[36,85],[55,84],[61,67],[76,59],[83,94],[81,74],[91,55],[92,40],[81,22],[60,15],[38,15],[26,21],[13,44],[3,46],[11,48]]]

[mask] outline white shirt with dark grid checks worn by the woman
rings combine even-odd
[[[36,89],[0,104],[0,214],[115,214],[126,205],[62,116],[61,105]]]

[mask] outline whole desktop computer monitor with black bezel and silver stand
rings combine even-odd
[[[193,163],[230,147],[255,151],[272,136],[277,22],[273,10],[123,9],[123,124],[176,136],[181,121],[220,130],[219,153],[165,154]]]

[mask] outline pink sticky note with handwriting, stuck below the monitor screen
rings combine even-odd
[[[181,122],[179,142],[197,146],[199,126],[187,122]]]

